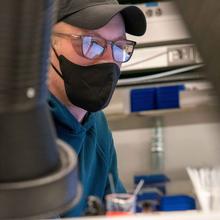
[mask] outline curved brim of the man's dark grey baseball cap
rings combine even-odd
[[[116,14],[121,13],[125,30],[128,34],[141,36],[146,31],[144,13],[136,6],[128,5],[95,5],[77,11],[62,21],[88,30],[95,30],[107,24]]]

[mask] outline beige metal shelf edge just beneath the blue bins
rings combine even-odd
[[[207,115],[207,113],[209,113]],[[146,111],[130,114],[106,115],[109,126],[113,131],[141,128],[153,128],[155,118],[163,117],[166,126],[216,123],[220,121],[219,111],[214,106],[189,107],[184,109],[170,109]]]

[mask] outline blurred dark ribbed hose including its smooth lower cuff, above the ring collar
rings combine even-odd
[[[59,166],[46,103],[55,0],[0,6],[0,182],[44,176]]]

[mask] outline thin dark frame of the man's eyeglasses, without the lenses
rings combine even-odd
[[[136,46],[136,42],[135,41],[132,41],[132,40],[116,40],[116,41],[110,41],[110,40],[106,40],[106,39],[104,39],[104,38],[101,38],[101,37],[99,37],[99,36],[94,36],[94,35],[76,35],[76,34],[68,34],[68,33],[61,33],[61,32],[53,32],[53,35],[55,35],[55,36],[57,36],[57,37],[67,37],[67,38],[70,38],[71,40],[78,40],[78,39],[81,39],[82,40],[82,37],[94,37],[94,38],[97,38],[97,39],[101,39],[101,40],[103,40],[104,42],[105,42],[105,44],[104,44],[104,47],[103,47],[103,52],[100,54],[100,55],[98,55],[98,57],[102,57],[103,56],[103,54],[105,53],[105,51],[106,51],[106,49],[107,49],[107,47],[108,47],[108,45],[110,45],[111,46],[111,50],[112,50],[112,57],[113,57],[113,59],[114,59],[114,61],[115,62],[117,62],[117,63],[126,63],[126,62],[128,62],[130,59],[131,59],[131,57],[132,57],[132,55],[133,55],[133,52],[134,52],[134,49],[135,49],[135,46]],[[116,42],[119,42],[119,41],[125,41],[125,42],[128,42],[128,44],[130,44],[130,45],[132,45],[133,46],[133,49],[132,49],[132,52],[131,52],[131,55],[130,55],[130,57],[129,57],[129,59],[128,60],[126,60],[126,61],[117,61],[116,59],[115,59],[115,57],[114,57],[114,52],[113,52],[113,46],[114,45],[116,45],[117,46],[117,44],[116,44]],[[72,46],[74,47],[74,45],[73,45],[73,43],[72,43]],[[81,56],[83,56],[84,58],[86,58],[86,59],[89,59],[89,60],[94,60],[94,59],[96,59],[96,58],[89,58],[89,57],[87,57],[87,56],[85,56],[84,55],[84,53],[83,53],[83,49],[82,49],[82,44],[81,44],[81,54],[79,54],[79,55],[81,55]]]

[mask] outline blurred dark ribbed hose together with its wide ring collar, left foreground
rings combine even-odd
[[[0,219],[53,217],[77,196],[76,157],[57,144],[46,102],[55,4],[1,2]]]

